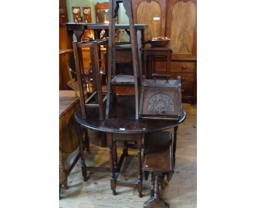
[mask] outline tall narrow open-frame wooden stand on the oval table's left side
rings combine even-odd
[[[75,68],[77,70],[77,78],[79,83],[79,93],[80,102],[82,108],[83,118],[86,119],[86,107],[98,108],[100,120],[104,119],[103,114],[103,103],[107,100],[107,96],[102,97],[101,89],[101,79],[100,79],[100,45],[107,44],[106,40],[86,40],[77,43],[73,42],[74,58],[75,58]],[[91,64],[92,64],[92,76],[94,79],[94,93],[87,100],[84,96],[84,69],[83,69],[83,59],[82,59],[82,48],[89,47],[91,54]],[[97,96],[96,96],[97,95]],[[95,98],[95,102],[91,102]]]

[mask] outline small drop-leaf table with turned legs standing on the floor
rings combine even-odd
[[[165,175],[167,175],[167,180],[170,181],[174,173],[171,132],[162,131],[149,134],[146,140],[142,169],[146,180],[149,172],[152,173],[150,199],[144,202],[143,207],[169,207],[168,203],[161,198],[161,195]]]

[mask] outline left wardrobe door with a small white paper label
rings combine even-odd
[[[132,0],[134,22],[148,24],[145,40],[165,35],[166,0]]]

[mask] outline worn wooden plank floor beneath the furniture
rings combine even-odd
[[[176,167],[170,182],[164,180],[163,198],[171,208],[196,207],[196,106],[189,103],[182,104],[187,112],[187,119],[178,128]],[[170,130],[172,131],[172,130]],[[100,148],[99,134],[89,130],[91,151],[85,151],[86,165],[109,166],[108,148]],[[118,143],[118,155],[121,154]],[[129,149],[129,156],[124,160],[120,180],[137,180],[136,150]],[[90,172],[87,182],[83,181],[81,161],[79,160],[68,176],[68,189],[61,189],[61,208],[98,208],[98,207],[143,207],[143,202],[150,195],[149,180],[143,180],[143,197],[138,197],[136,188],[117,187],[117,195],[112,195],[110,189],[110,175],[107,172]]]

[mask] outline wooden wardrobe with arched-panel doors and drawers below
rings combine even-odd
[[[196,103],[196,0],[132,0],[135,23],[146,23],[146,40],[153,36],[171,38],[171,63],[167,74],[181,76],[182,99]],[[162,74],[164,64],[156,63]]]

